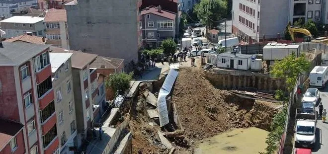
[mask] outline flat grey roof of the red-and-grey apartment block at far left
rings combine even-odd
[[[2,42],[0,48],[0,66],[17,66],[31,59],[51,45],[33,43]]]

